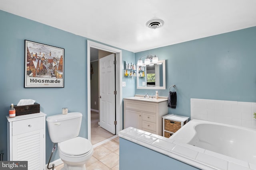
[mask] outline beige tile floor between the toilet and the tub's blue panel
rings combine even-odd
[[[63,164],[56,166],[60,170]],[[93,156],[86,162],[86,170],[119,170],[119,137],[96,148]]]

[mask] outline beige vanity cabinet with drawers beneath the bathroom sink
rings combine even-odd
[[[162,116],[168,113],[167,100],[147,102],[124,98],[124,128],[134,127],[162,135]]]

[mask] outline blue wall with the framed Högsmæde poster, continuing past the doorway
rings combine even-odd
[[[7,160],[6,115],[10,104],[17,104],[20,99],[36,100],[47,116],[61,113],[62,107],[68,107],[69,112],[81,112],[80,136],[87,137],[87,38],[1,10],[0,23],[0,153],[4,153],[4,160]],[[64,88],[24,88],[24,39],[65,49]],[[122,59],[134,63],[134,53],[122,50]],[[132,82],[127,85],[123,95],[133,96]],[[46,162],[52,146],[46,125]],[[58,158],[55,152],[52,160]]]

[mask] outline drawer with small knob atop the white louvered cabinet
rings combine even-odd
[[[44,117],[35,117],[12,122],[12,135],[19,135],[44,128]]]

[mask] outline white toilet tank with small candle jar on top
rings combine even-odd
[[[82,113],[71,112],[66,115],[52,115],[46,118],[48,132],[53,143],[77,137],[82,122]]]

